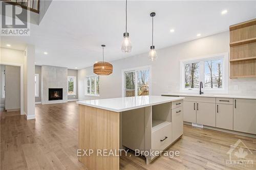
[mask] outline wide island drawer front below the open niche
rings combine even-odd
[[[152,132],[152,151],[163,151],[171,143],[172,143],[172,123],[169,123],[166,126]]]

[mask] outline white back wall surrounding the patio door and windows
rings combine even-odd
[[[160,95],[166,92],[178,92],[180,60],[226,52],[229,53],[229,32],[162,48],[157,50],[158,60],[154,62],[148,60],[147,53],[112,61],[113,74],[110,76],[100,76],[99,98],[84,95],[84,78],[93,75],[93,67],[80,69],[78,70],[78,99],[91,100],[121,97],[121,70],[145,65],[152,65],[152,95]],[[106,59],[107,58],[108,56],[106,56]],[[256,78],[229,79],[229,93],[256,95],[255,84]],[[239,90],[234,90],[234,85],[238,85]]]

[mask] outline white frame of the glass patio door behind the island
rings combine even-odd
[[[148,93],[148,95],[151,95],[152,93],[152,82],[151,82],[151,79],[152,79],[152,66],[151,65],[146,65],[146,66],[141,66],[141,67],[134,67],[134,68],[128,68],[128,69],[122,69],[121,70],[121,73],[122,73],[122,97],[124,98],[125,97],[125,78],[124,78],[124,73],[125,72],[133,72],[135,71],[135,96],[138,96],[138,74],[137,74],[137,71],[139,70],[145,70],[145,69],[149,69],[150,70],[150,77],[148,79],[148,84],[149,84],[149,90],[150,92]]]

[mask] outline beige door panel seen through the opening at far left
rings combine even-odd
[[[20,109],[20,67],[5,66],[5,109]]]

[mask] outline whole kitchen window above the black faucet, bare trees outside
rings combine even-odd
[[[197,90],[200,82],[204,91],[227,92],[228,55],[219,54],[210,57],[181,61],[181,91]]]

